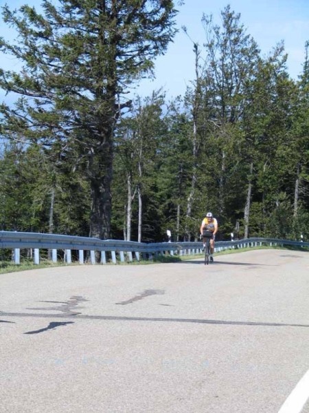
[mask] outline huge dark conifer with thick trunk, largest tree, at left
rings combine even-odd
[[[19,37],[15,44],[1,39],[1,51],[23,69],[0,70],[0,87],[21,96],[14,108],[1,105],[1,134],[69,153],[72,168],[89,180],[90,235],[106,238],[115,123],[130,107],[127,88],[152,74],[176,32],[174,2],[43,0],[42,8],[3,8]]]

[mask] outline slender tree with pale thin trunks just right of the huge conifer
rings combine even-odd
[[[164,124],[161,119],[164,96],[161,90],[153,92],[150,98],[138,96],[133,103],[130,116],[122,119],[117,129],[117,155],[122,167],[117,169],[122,173],[123,181],[126,182],[118,190],[126,196],[126,231],[125,238],[130,240],[131,223],[133,214],[133,198],[137,200],[137,241],[141,238],[153,239],[155,234],[155,218],[157,208],[156,196],[152,191],[156,189],[157,157],[160,156],[161,138],[164,134]],[[117,190],[115,190],[117,191]],[[152,194],[152,195],[150,195]],[[119,197],[119,195],[118,195]],[[124,198],[122,196],[122,198]],[[150,201],[150,202],[149,202]],[[148,212],[152,209],[152,213]],[[123,209],[120,208],[120,213]]]

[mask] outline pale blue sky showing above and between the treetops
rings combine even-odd
[[[5,3],[9,3],[10,8],[19,8],[24,3],[38,6],[41,0],[0,0],[0,6]],[[163,87],[168,97],[183,95],[187,85],[194,79],[194,53],[192,42],[181,26],[185,25],[191,39],[202,46],[205,39],[201,23],[203,13],[212,14],[215,23],[220,23],[220,11],[227,4],[230,4],[231,10],[241,14],[241,23],[258,43],[263,55],[271,52],[279,41],[284,41],[288,53],[288,71],[296,80],[304,63],[305,42],[309,40],[308,0],[185,0],[185,4],[178,7],[176,20],[179,33],[174,43],[170,43],[166,54],[159,56],[156,61],[155,81],[142,81],[136,92],[147,96],[152,90]],[[5,39],[10,36],[3,23],[0,25],[0,36]],[[7,69],[9,65],[14,67],[14,62],[7,58],[1,59],[0,67]]]

